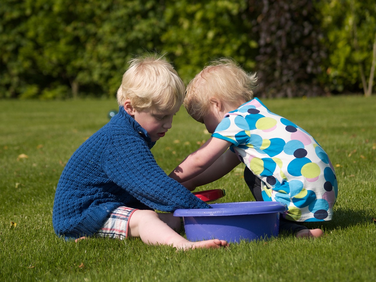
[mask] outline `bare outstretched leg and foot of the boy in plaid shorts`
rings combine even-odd
[[[190,242],[176,233],[170,226],[164,223],[154,211],[136,210],[129,218],[128,237],[140,237],[141,240],[150,245],[170,245],[176,249],[196,248],[220,248],[229,244],[224,240],[207,240]]]

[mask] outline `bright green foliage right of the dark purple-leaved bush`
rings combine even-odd
[[[329,54],[323,64],[327,87],[338,92],[367,88],[371,83],[365,77],[369,79],[375,60],[372,50],[376,42],[376,3],[374,0],[324,0],[319,5],[325,31],[323,42]]]

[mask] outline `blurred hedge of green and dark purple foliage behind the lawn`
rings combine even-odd
[[[115,97],[134,55],[188,83],[232,57],[258,97],[375,91],[374,0],[1,0],[0,98]]]

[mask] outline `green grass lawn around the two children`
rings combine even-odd
[[[317,240],[280,234],[226,250],[176,252],[139,239],[58,238],[56,185],[74,150],[108,122],[114,100],[0,101],[0,281],[368,281],[376,275],[376,96],[263,101],[310,132],[329,154],[339,196]],[[209,137],[182,109],[152,152],[169,173]],[[22,158],[23,155],[27,158]],[[200,190],[253,200],[240,165]],[[11,227],[11,221],[17,223]]]

